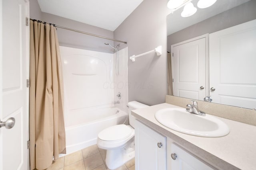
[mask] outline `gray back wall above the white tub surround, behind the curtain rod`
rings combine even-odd
[[[113,31],[41,12],[37,0],[30,0],[30,18],[45,21],[48,23],[54,23],[56,25],[76,29],[79,31],[101,35],[108,38],[114,38]],[[104,45],[104,42],[113,45],[114,42],[111,40],[102,39],[91,35],[85,35],[62,28],[57,28],[57,33],[59,44],[61,46],[114,53],[113,49],[110,46]]]

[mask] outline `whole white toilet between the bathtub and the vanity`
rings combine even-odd
[[[134,148],[134,121],[131,115],[134,109],[148,107],[148,105],[132,101],[128,102],[128,117],[130,125],[114,125],[108,127],[98,134],[97,145],[101,149],[106,149],[106,165],[110,170],[122,166],[125,162],[135,156]]]

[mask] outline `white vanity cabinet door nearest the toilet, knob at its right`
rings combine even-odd
[[[135,169],[166,170],[166,137],[135,121]]]

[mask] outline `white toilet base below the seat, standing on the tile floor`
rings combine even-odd
[[[135,156],[134,137],[121,149],[107,150],[106,165],[110,170],[114,170]]]

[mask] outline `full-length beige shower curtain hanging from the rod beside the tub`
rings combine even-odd
[[[30,21],[30,164],[43,170],[66,152],[56,28]]]

